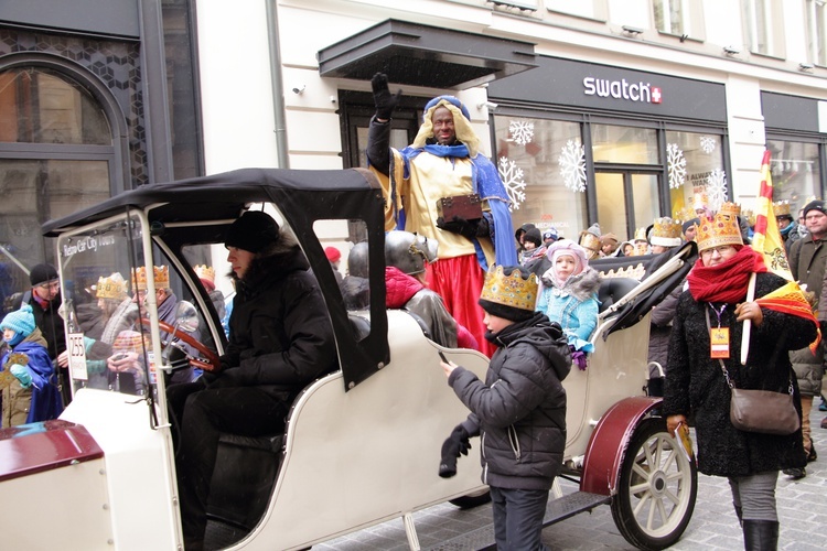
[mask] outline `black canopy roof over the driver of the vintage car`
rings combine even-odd
[[[345,386],[365,380],[389,361],[385,313],[385,215],[378,180],[362,169],[300,171],[241,169],[204,177],[131,190],[69,216],[43,225],[43,235],[62,233],[110,216],[140,209],[150,223],[236,219],[250,203],[275,203],[299,239],[324,292]],[[369,242],[370,334],[355,342],[347,312],[322,245],[313,231],[319,219],[361,219]],[[169,233],[172,238],[174,231]],[[164,235],[157,239],[168,238]],[[184,262],[185,263],[185,262]]]

